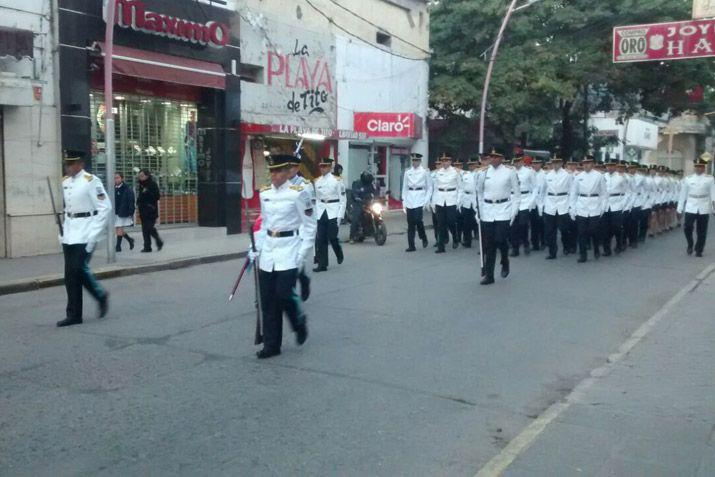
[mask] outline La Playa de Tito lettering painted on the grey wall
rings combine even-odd
[[[268,52],[268,86],[289,88],[286,109],[293,113],[324,113],[333,94],[330,65],[323,57],[311,57],[308,45],[295,40],[293,51]]]

